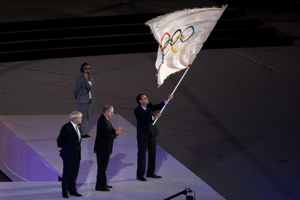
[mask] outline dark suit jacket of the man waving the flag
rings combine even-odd
[[[141,107],[138,106],[134,109],[135,117],[137,118],[137,139],[140,141],[143,140],[149,140],[150,138],[150,129],[149,126],[152,126],[153,120],[152,120],[152,112],[156,110],[160,110],[165,105],[164,102],[153,105],[151,102],[147,105],[147,112]],[[154,127],[157,129],[156,123],[154,124]],[[157,129],[158,132],[158,129]],[[156,135],[152,135],[153,137],[156,137]]]

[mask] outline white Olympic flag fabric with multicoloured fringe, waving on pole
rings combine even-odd
[[[158,42],[158,87],[172,73],[191,66],[225,6],[178,10],[145,22]]]

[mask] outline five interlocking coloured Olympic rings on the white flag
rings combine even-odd
[[[187,37],[187,39],[185,39],[185,37],[183,36],[183,33],[184,33],[188,28],[191,28],[193,32],[192,32],[192,34],[191,34],[189,37]],[[175,36],[175,34],[176,34],[177,32],[179,32],[180,34],[177,35],[177,37],[175,38],[175,41],[174,41],[174,40],[173,40],[173,37]],[[165,55],[168,53],[168,51],[169,51],[170,48],[171,48],[171,51],[172,51],[173,53],[177,53],[177,52],[182,48],[183,43],[186,42],[186,41],[194,34],[194,32],[195,32],[195,29],[194,29],[193,26],[187,27],[183,32],[181,32],[181,29],[178,29],[177,31],[174,32],[172,38],[171,38],[171,35],[170,35],[168,32],[165,32],[165,34],[163,35],[162,39],[160,40],[161,45],[162,45],[162,43],[163,43],[163,38],[164,38],[166,35],[169,36],[169,39],[168,39],[168,40],[164,43],[164,45],[162,46],[162,50],[164,50],[165,48],[167,48],[169,44],[170,44],[170,47],[168,48],[168,50],[167,50],[166,53],[163,53],[163,56],[165,56]],[[178,41],[178,39],[181,41],[181,46],[180,46],[180,48],[176,51],[176,50],[174,50],[173,45]]]

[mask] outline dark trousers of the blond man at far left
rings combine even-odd
[[[76,179],[80,160],[63,160],[62,190],[63,192],[76,192]]]

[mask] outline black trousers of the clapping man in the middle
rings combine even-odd
[[[103,188],[106,185],[106,169],[109,161],[110,155],[97,155],[97,181],[96,181],[96,190]]]

